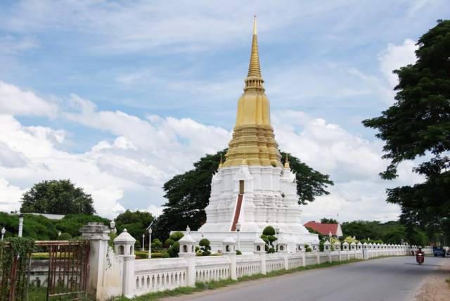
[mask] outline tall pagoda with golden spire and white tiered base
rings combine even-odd
[[[213,251],[221,250],[222,242],[231,236],[241,252],[253,252],[255,239],[266,226],[274,226],[278,239],[288,244],[288,252],[295,252],[299,243],[319,243],[318,236],[302,225],[295,174],[288,160],[284,166],[281,163],[263,83],[255,17],[250,66],[233,138],[225,162],[212,177],[207,221],[191,231],[195,241],[209,239]]]

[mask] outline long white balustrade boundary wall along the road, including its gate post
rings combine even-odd
[[[103,234],[105,233],[105,229]],[[106,235],[107,236],[107,235]],[[90,275],[96,281],[89,290],[97,300],[110,300],[124,295],[134,297],[162,290],[172,290],[184,286],[195,286],[195,282],[237,279],[253,274],[266,274],[281,269],[295,269],[323,262],[338,262],[352,259],[370,259],[381,256],[411,255],[416,246],[364,244],[342,245],[344,250],[326,250],[324,252],[274,253],[259,251],[254,255],[160,258],[135,260],[134,250],[124,245],[124,252],[118,254],[122,245],[115,243],[112,248],[96,248],[98,240],[105,241],[105,236],[87,237],[91,241],[91,255],[96,254],[96,261],[90,262]],[[123,244],[123,242],[122,242]],[[127,244],[127,243],[125,243]],[[128,248],[127,248],[128,247]],[[339,248],[339,247],[338,247]],[[108,249],[106,251],[106,249]],[[350,249],[350,250],[348,250]],[[432,254],[432,247],[422,249],[425,254]]]

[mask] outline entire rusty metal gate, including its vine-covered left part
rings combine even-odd
[[[43,268],[37,271],[36,264]],[[13,254],[11,243],[0,241],[0,301],[24,301],[30,295],[78,300],[86,295],[88,277],[89,241],[36,241],[20,256]]]

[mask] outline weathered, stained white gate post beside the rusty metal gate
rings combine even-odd
[[[79,231],[90,244],[87,290],[97,297],[101,293],[110,229],[102,223],[91,222],[82,226]]]

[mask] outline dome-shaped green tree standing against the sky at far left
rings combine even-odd
[[[20,212],[49,214],[94,214],[90,194],[70,180],[41,181],[22,196]]]

